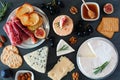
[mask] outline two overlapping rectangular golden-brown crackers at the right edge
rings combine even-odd
[[[119,19],[115,17],[103,17],[97,31],[107,38],[112,38],[119,31]]]

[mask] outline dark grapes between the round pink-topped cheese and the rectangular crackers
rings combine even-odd
[[[85,36],[89,36],[91,33],[93,33],[94,29],[90,24],[84,25],[84,24],[80,24],[78,23],[76,25],[76,34],[77,36],[80,37],[85,37]]]

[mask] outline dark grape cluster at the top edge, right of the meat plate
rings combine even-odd
[[[60,8],[64,8],[64,3],[60,0],[52,0],[47,4],[42,3],[40,6],[42,9],[47,9],[51,15],[54,15],[60,12]]]

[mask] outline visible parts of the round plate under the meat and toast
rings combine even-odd
[[[39,9],[38,7],[33,6],[33,8],[35,9],[36,12],[38,12],[38,13],[43,17],[43,20],[44,20],[43,28],[45,29],[46,34],[47,34],[47,36],[48,36],[49,30],[50,30],[50,25],[49,25],[48,17],[47,17],[46,14],[45,14],[41,9]],[[7,21],[9,21],[12,16],[15,16],[15,11],[16,11],[16,10],[17,10],[17,9],[13,10],[13,11],[10,13]],[[29,48],[34,48],[34,47],[39,46],[39,45],[42,44],[44,41],[45,41],[45,39],[42,39],[42,40],[39,40],[36,44],[33,44],[33,43],[31,42],[31,39],[28,39],[28,40],[24,41],[22,44],[17,45],[17,46],[20,47],[20,48],[29,49]]]

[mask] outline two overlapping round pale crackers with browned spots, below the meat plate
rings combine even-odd
[[[12,69],[19,68],[22,65],[22,57],[15,46],[8,45],[3,49],[1,62]]]

